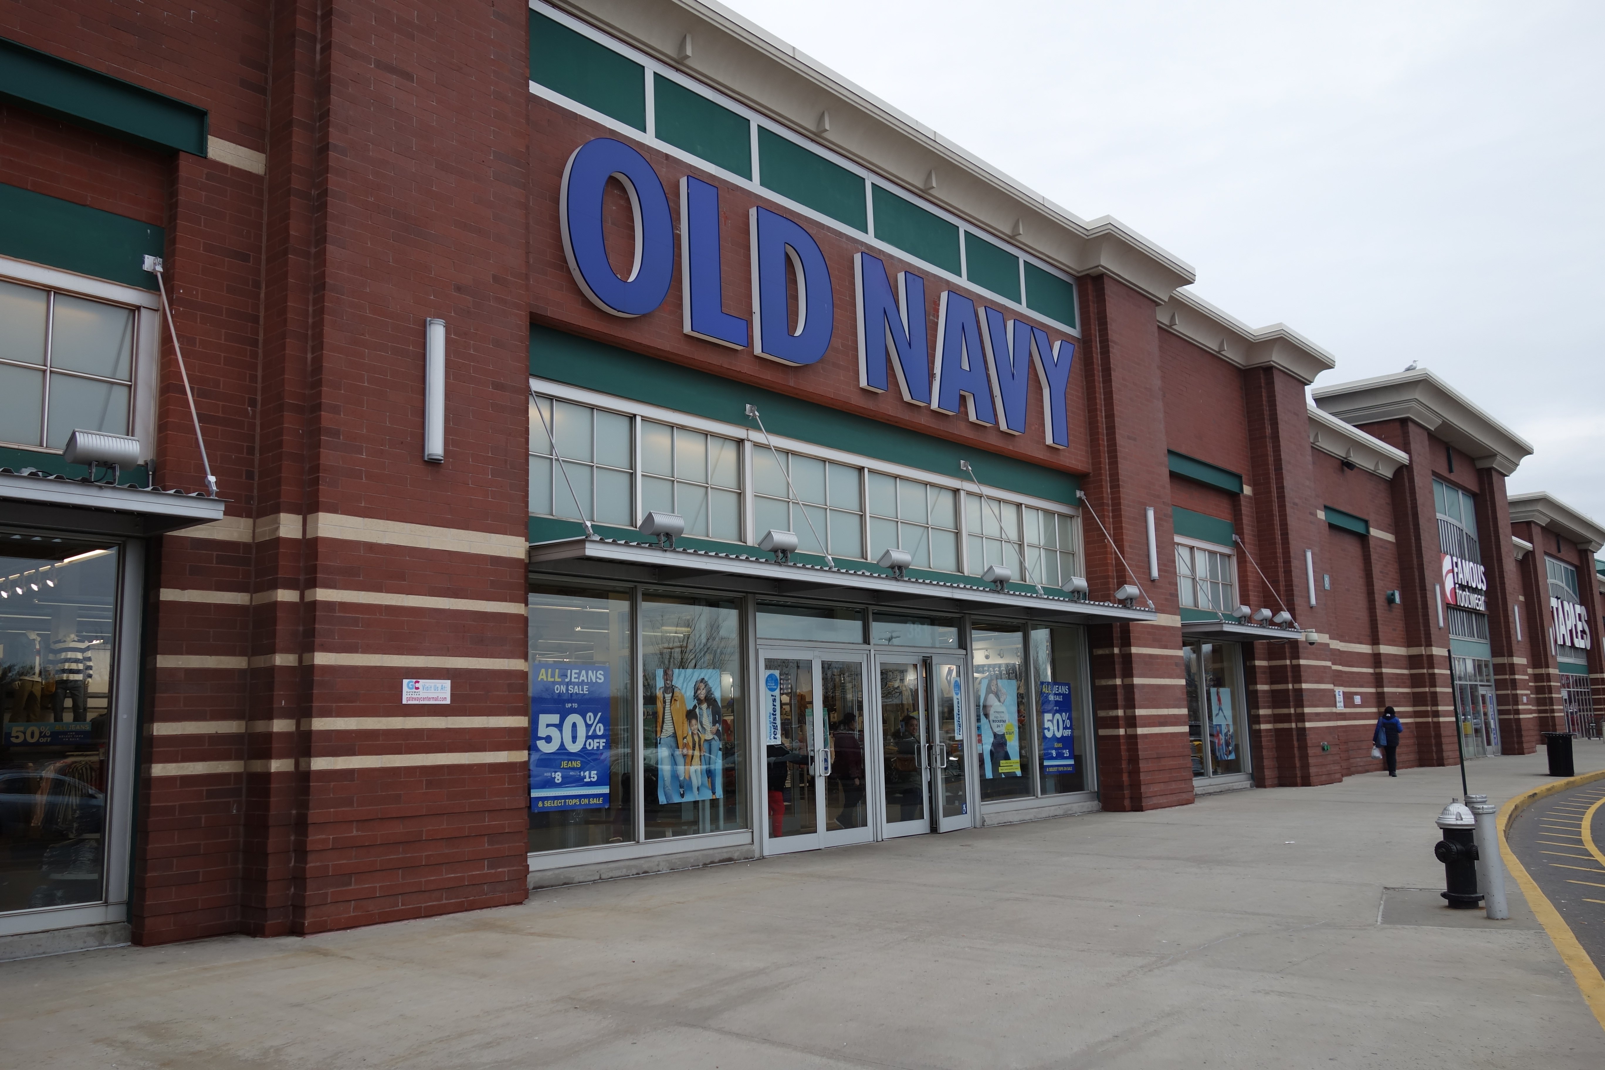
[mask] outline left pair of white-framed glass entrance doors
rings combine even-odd
[[[863,658],[762,650],[770,853],[870,841]]]

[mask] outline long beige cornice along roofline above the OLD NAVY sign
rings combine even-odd
[[[551,2],[1066,271],[1154,302],[1196,278],[1119,220],[1082,220],[719,3]]]

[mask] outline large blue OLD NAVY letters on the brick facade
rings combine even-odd
[[[602,205],[610,180],[624,188],[634,217],[636,250],[626,276],[613,270],[603,244]],[[748,212],[753,261],[748,319],[725,311],[719,188],[685,175],[679,197],[676,242],[669,194],[647,157],[613,138],[595,138],[575,149],[563,168],[559,217],[563,253],[584,295],[615,316],[653,313],[668,300],[677,252],[685,334],[735,350],[751,347],[754,355],[791,367],[817,364],[830,350],[836,289],[814,236],[778,212],[764,207]],[[796,286],[794,322],[788,282]],[[892,279],[880,257],[859,252],[852,257],[852,290],[860,387],[886,393],[896,380],[908,404],[963,414],[973,424],[1022,435],[1035,379],[1046,444],[1069,444],[1064,393],[1074,342],[1053,342],[1042,327],[944,289],[937,295],[933,353],[923,276],[899,271]]]

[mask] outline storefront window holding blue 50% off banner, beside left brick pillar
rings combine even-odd
[[[530,850],[634,839],[629,595],[530,592]]]

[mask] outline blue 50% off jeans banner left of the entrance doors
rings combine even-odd
[[[530,666],[530,809],[608,805],[607,666]]]

